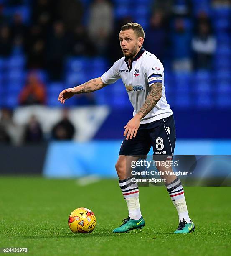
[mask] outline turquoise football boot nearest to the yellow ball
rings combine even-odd
[[[138,229],[143,228],[145,226],[145,220],[143,217],[140,218],[140,220],[133,220],[128,217],[127,219],[123,220],[123,223],[120,227],[115,228],[113,230],[113,233],[123,233],[128,232],[132,229]]]

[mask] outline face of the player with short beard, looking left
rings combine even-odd
[[[125,57],[133,58],[138,50],[140,39],[132,29],[123,30],[119,33],[120,47]]]

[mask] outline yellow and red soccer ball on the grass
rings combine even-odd
[[[74,233],[91,233],[96,226],[96,217],[87,208],[77,208],[71,212],[68,225]]]

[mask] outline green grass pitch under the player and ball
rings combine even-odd
[[[127,218],[117,180],[84,187],[76,179],[0,177],[0,247],[28,255],[231,255],[231,187],[185,187],[195,232],[175,235],[178,215],[164,187],[140,187],[143,230],[113,234]],[[74,234],[68,217],[78,207],[97,219],[91,234]],[[24,253],[21,253],[24,254]]]

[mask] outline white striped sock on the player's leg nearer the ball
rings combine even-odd
[[[139,188],[136,182],[132,182],[132,177],[119,180],[119,187],[127,202],[128,215],[131,219],[139,220],[142,215],[140,212]]]

